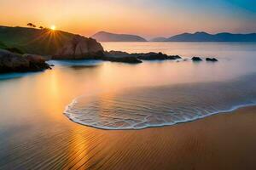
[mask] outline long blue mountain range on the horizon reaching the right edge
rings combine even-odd
[[[164,42],[256,42],[256,33],[232,34],[228,32],[208,34],[207,32],[183,33],[163,39]]]

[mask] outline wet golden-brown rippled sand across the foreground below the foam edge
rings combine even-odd
[[[8,139],[0,169],[256,169],[256,107],[143,130],[65,121]]]

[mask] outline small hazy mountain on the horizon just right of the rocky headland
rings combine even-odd
[[[99,31],[92,38],[98,42],[147,42],[143,37],[128,34],[113,34],[106,31]]]

